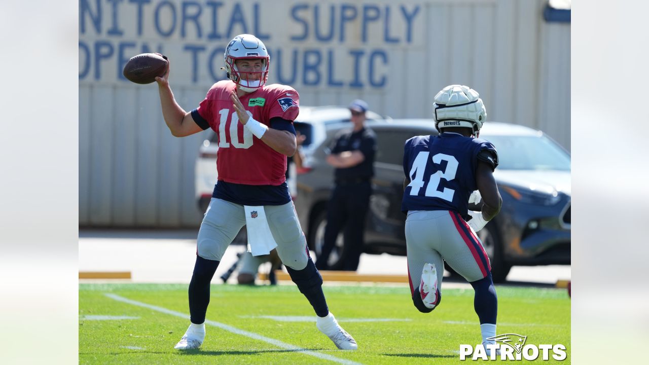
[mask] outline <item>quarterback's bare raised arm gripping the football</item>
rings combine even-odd
[[[169,86],[169,68],[162,77],[156,77],[156,81],[160,93],[162,116],[171,134],[175,137],[184,137],[201,132],[203,129],[191,118],[191,112],[186,112],[181,108],[173,97],[171,86]]]

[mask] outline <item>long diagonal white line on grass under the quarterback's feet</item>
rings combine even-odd
[[[156,307],[155,305],[142,303],[140,301],[134,301],[134,300],[127,299],[125,297],[121,297],[121,296],[118,296],[117,294],[112,294],[112,293],[104,293],[104,296],[107,296],[107,297],[109,297],[111,299],[115,299],[116,301],[121,301],[123,303],[129,303],[129,304],[132,304],[132,305],[137,305],[138,307],[144,307],[144,308],[157,310],[158,312],[162,312],[162,313],[165,313],[165,314],[171,314],[171,316],[177,316],[177,317],[180,317],[180,318],[184,318],[186,320],[190,320],[189,314],[176,312],[175,310],[170,310],[170,309],[162,308],[162,307]],[[271,345],[274,345],[274,346],[277,346],[277,347],[282,347],[283,349],[295,351],[295,352],[298,352],[298,353],[303,353],[304,355],[317,357],[318,359],[330,360],[330,361],[333,361],[333,362],[337,362],[339,364],[346,364],[346,365],[361,365],[359,362],[354,362],[352,360],[339,359],[337,357],[327,355],[327,354],[324,354],[324,353],[318,353],[318,352],[311,351],[311,350],[308,350],[308,349],[302,349],[301,347],[293,346],[291,344],[287,344],[286,342],[282,342],[280,340],[275,340],[275,338],[270,338],[270,337],[262,336],[261,334],[256,334],[256,333],[252,333],[252,332],[249,332],[249,331],[244,331],[243,329],[238,329],[236,327],[232,327],[231,325],[227,325],[225,323],[205,320],[205,324],[213,325],[214,327],[219,327],[220,329],[225,329],[225,331],[229,331],[229,332],[232,332],[234,334],[241,334],[241,336],[246,336],[246,337],[252,338],[254,340],[260,340],[260,341],[263,341],[263,342],[267,342],[267,343],[269,343]]]

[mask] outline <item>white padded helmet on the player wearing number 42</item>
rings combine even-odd
[[[464,85],[450,85],[435,95],[435,128],[440,133],[446,127],[471,128],[477,137],[487,118],[487,109],[480,94]]]

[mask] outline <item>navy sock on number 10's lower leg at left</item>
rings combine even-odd
[[[205,321],[207,306],[210,304],[210,282],[219,266],[219,261],[208,260],[196,256],[194,273],[191,275],[190,289],[190,320],[197,325]]]

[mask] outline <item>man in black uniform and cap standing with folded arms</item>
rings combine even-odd
[[[365,216],[372,194],[376,135],[365,127],[367,103],[354,100],[349,105],[351,129],[341,131],[330,147],[326,162],[336,168],[334,190],[329,199],[324,244],[315,262],[319,270],[329,269],[327,261],[341,228],[345,227],[345,248],[341,270],[356,271],[363,252]]]

